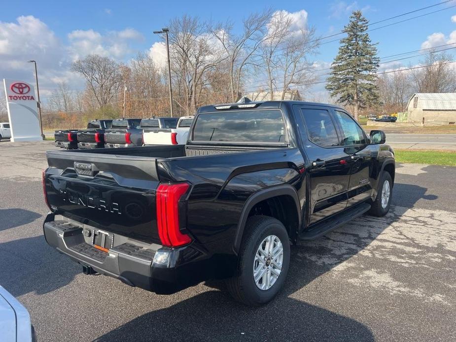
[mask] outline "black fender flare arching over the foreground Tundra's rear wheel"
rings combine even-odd
[[[242,208],[241,217],[239,218],[233,245],[233,250],[236,254],[238,254],[241,248],[241,242],[244,236],[244,229],[246,227],[248,213],[253,208],[253,206],[260,203],[261,201],[282,195],[289,195],[294,200],[294,203],[296,205],[296,212],[298,214],[298,227],[301,226],[301,205],[299,204],[300,202],[298,193],[296,192],[296,189],[294,187],[292,187],[289,184],[282,184],[278,186],[273,186],[271,188],[258,190],[252,195],[250,195],[250,197],[247,199],[246,203]]]

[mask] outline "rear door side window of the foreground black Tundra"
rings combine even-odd
[[[309,140],[322,147],[339,146],[336,127],[325,109],[302,109]]]

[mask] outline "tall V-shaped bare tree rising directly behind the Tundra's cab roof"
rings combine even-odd
[[[210,25],[210,32],[220,42],[227,55],[232,102],[239,98],[245,68],[267,37],[266,25],[271,15],[271,9],[249,15],[243,20],[243,32],[239,35],[233,33],[232,22]]]

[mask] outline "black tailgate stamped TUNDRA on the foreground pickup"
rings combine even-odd
[[[53,211],[127,238],[160,242],[155,158],[56,151],[46,156],[44,188]]]

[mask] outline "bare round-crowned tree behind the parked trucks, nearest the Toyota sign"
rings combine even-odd
[[[119,64],[107,57],[88,55],[71,65],[87,81],[87,88],[100,107],[110,103],[122,85]]]

